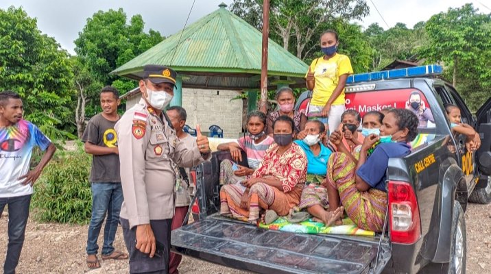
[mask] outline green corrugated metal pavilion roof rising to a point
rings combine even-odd
[[[261,74],[261,32],[226,10],[225,4],[219,7],[215,12],[186,27],[180,45],[178,40],[182,31],[169,36],[112,73],[141,79],[143,66],[162,64],[171,66],[181,75],[188,75],[183,79],[183,86],[186,86],[186,79],[194,77],[191,75],[220,75],[221,79],[216,79],[218,82],[231,77],[234,79],[229,79],[230,81],[249,82],[248,86],[251,86],[250,81],[259,82],[259,78],[254,75]],[[178,49],[174,53],[177,45]],[[270,39],[267,69],[269,77],[295,77],[294,82],[300,84],[304,83],[302,78],[308,66]],[[201,78],[201,81],[205,81],[204,77]],[[229,85],[243,86],[230,83],[219,86]]]

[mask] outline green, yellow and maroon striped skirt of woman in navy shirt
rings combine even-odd
[[[360,192],[355,182],[356,164],[348,155],[333,153],[327,162],[327,182],[339,192],[350,219],[358,227],[381,232],[387,208],[387,193],[376,188]]]

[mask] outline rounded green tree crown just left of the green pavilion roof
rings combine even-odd
[[[143,32],[144,26],[139,14],[132,16],[128,25],[123,9],[96,12],[79,32],[75,52],[97,81],[110,85],[119,79],[110,75],[111,71],[163,40],[152,29],[148,34]]]

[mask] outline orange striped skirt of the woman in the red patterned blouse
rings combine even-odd
[[[262,210],[274,210],[286,216],[300,202],[303,184],[290,192],[283,192],[265,183],[254,184],[243,191],[237,184],[226,184],[220,189],[220,214],[241,221],[255,222]]]

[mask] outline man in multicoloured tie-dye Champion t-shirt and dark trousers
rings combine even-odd
[[[3,273],[15,273],[24,243],[32,185],[51,160],[56,147],[38,127],[22,119],[21,97],[13,91],[0,92],[0,213],[8,205],[8,248]],[[29,169],[32,149],[45,155]]]

